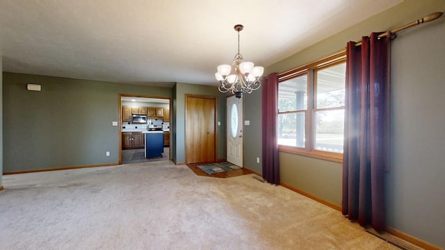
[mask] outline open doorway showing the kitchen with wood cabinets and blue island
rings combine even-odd
[[[119,164],[170,160],[170,98],[119,96]]]

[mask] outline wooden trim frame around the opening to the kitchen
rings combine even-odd
[[[171,143],[171,135],[172,130],[175,130],[175,124],[172,126],[172,108],[173,102],[171,97],[159,97],[159,96],[151,96],[145,94],[118,94],[118,106],[119,106],[119,117],[118,117],[118,129],[119,129],[119,165],[122,165],[122,97],[141,97],[141,98],[150,98],[150,99],[168,99],[168,106],[170,107],[170,144],[168,146],[168,160],[172,160],[172,143]]]

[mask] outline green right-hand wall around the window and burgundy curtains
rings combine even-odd
[[[346,47],[373,31],[385,31],[445,10],[442,0],[403,3],[347,28],[266,68],[284,72]],[[445,248],[445,17],[398,33],[391,46],[391,172],[385,175],[387,223],[391,228]],[[245,114],[261,117],[260,93],[245,96]],[[439,109],[438,109],[439,108]],[[261,118],[245,128],[247,145],[261,144]],[[252,131],[252,133],[250,133]],[[249,146],[250,147],[250,146]],[[245,149],[247,167],[261,148]],[[252,167],[254,166],[254,167]],[[341,206],[339,163],[280,153],[282,182]]]

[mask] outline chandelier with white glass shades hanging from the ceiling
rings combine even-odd
[[[259,89],[264,67],[254,67],[253,63],[244,62],[243,56],[239,53],[239,32],[243,30],[244,26],[236,24],[234,28],[238,32],[238,53],[232,61],[234,71],[232,72],[230,65],[219,65],[215,77],[220,82],[218,85],[220,92],[232,92],[239,99],[243,96],[243,93],[250,94],[252,91]]]

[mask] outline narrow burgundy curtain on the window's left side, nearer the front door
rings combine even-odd
[[[278,163],[277,119],[278,76],[270,73],[263,83],[263,178],[268,183],[280,184]]]

